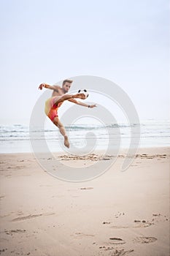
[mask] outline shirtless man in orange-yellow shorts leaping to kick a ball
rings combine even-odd
[[[51,121],[53,121],[53,124],[55,124],[56,127],[61,132],[61,135],[63,135],[64,138],[64,145],[69,148],[69,139],[66,135],[66,129],[63,127],[63,124],[58,118],[58,108],[61,107],[64,101],[69,100],[69,102],[74,102],[77,105],[81,105],[88,108],[94,108],[95,105],[88,105],[83,102],[78,102],[76,98],[79,99],[85,99],[85,94],[67,94],[65,95],[69,89],[71,88],[72,80],[66,79],[63,80],[62,87],[61,86],[50,86],[47,83],[41,83],[39,86],[39,89],[42,90],[43,87],[47,89],[53,90],[52,97],[50,99],[47,99],[45,102],[45,114],[50,118]]]

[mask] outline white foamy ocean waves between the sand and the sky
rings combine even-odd
[[[140,127],[139,148],[170,146],[170,121],[142,121],[141,124],[133,124],[132,127]],[[66,127],[69,140],[77,150],[82,150],[88,142],[93,144],[95,140],[96,150],[105,150],[110,142],[115,145],[120,140],[120,148],[128,148],[131,142],[131,127],[128,124],[76,124]],[[52,152],[63,151],[63,138],[57,127],[43,130],[33,127],[34,138],[31,140],[46,140],[47,146]],[[120,133],[120,135],[119,135]],[[12,124],[0,125],[0,153],[32,152],[30,143],[30,130],[27,125]]]

